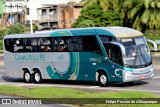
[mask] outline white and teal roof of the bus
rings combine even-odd
[[[119,38],[142,36],[143,33],[127,27],[92,27],[56,29],[50,31],[38,31],[33,34],[13,34],[4,38],[28,38],[28,37],[50,37],[50,36],[85,36],[85,35],[108,35]]]

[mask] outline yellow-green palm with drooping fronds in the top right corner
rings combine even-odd
[[[160,28],[160,0],[124,0],[124,25],[141,31]]]

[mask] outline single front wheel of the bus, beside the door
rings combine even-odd
[[[102,86],[102,87],[109,86],[108,77],[107,77],[107,75],[105,73],[100,73],[99,74],[98,82],[99,82],[100,86]]]

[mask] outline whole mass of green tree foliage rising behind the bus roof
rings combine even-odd
[[[147,29],[160,29],[160,0],[86,0],[81,16],[75,22],[90,20],[94,26],[121,25],[145,32]],[[98,12],[99,11],[99,12]],[[106,13],[110,13],[104,15]],[[119,15],[118,15],[119,14]],[[109,16],[108,16],[109,15]],[[123,19],[115,20],[110,16]],[[106,17],[105,20],[104,17]],[[107,18],[109,17],[109,18]],[[94,19],[95,18],[95,19]],[[117,18],[116,18],[117,19]],[[113,24],[110,24],[111,21]],[[88,21],[87,21],[88,22]],[[107,23],[107,25],[106,25]],[[109,23],[109,24],[108,24]],[[89,25],[87,25],[89,27]],[[73,26],[81,27],[81,25]]]

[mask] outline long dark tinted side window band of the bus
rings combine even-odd
[[[95,36],[6,39],[10,52],[96,52],[101,53]]]

